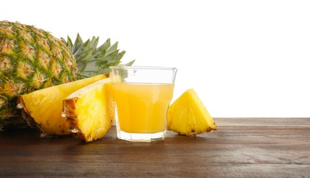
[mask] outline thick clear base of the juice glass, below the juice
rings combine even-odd
[[[127,133],[117,128],[118,139],[127,140],[130,142],[153,142],[164,140],[166,130],[157,133]]]

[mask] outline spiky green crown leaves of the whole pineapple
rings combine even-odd
[[[94,36],[86,42],[82,41],[80,34],[76,36],[74,43],[72,43],[69,36],[67,36],[67,41],[64,38],[61,38],[61,40],[67,45],[74,58],[76,58],[78,79],[109,73],[109,66],[120,64],[120,60],[126,53],[126,51],[118,49],[118,42],[111,45],[109,38],[100,47],[97,47],[99,37],[96,38]],[[133,62],[135,60],[124,65],[131,66]]]

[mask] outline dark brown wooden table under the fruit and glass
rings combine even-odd
[[[0,133],[0,177],[310,177],[310,118],[214,118],[196,137],[159,142]]]

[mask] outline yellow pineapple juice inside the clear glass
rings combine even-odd
[[[128,133],[164,131],[173,88],[173,84],[112,83],[120,129]]]

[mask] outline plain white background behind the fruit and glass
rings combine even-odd
[[[310,116],[310,1],[1,1],[0,20],[119,42],[123,62],[178,68],[213,117]]]

